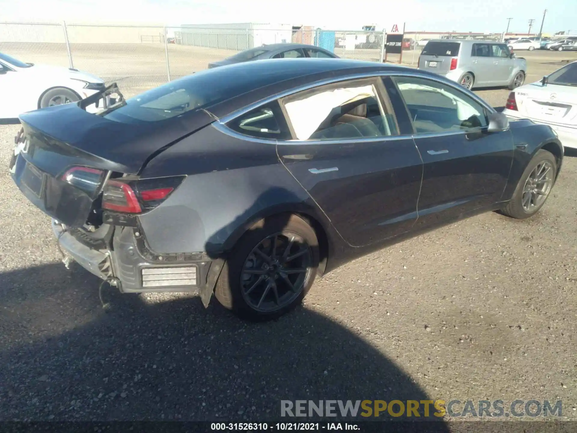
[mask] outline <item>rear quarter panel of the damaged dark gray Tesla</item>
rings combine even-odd
[[[141,178],[186,174],[168,199],[139,217],[149,248],[158,253],[230,250],[255,222],[300,212],[330,223],[280,163],[274,143],[226,135],[210,125],[156,156]]]

